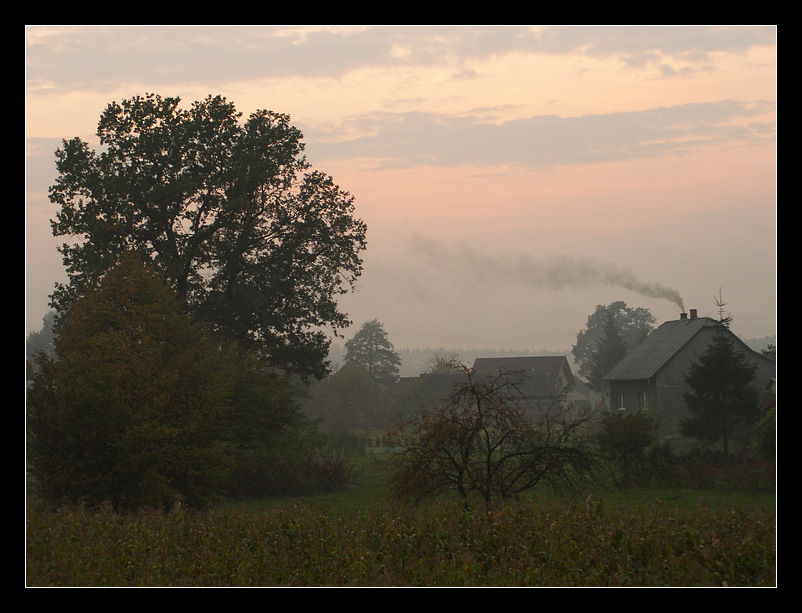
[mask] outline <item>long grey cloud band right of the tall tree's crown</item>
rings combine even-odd
[[[580,117],[539,115],[489,123],[479,117],[382,113],[325,131],[305,128],[323,159],[374,158],[388,167],[516,164],[534,168],[682,154],[700,145],[743,145],[774,136],[753,117],[772,103],[722,101]],[[363,136],[338,140],[338,135]]]

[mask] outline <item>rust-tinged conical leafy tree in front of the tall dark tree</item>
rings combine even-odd
[[[230,383],[160,275],[123,258],[75,303],[56,350],[29,370],[27,402],[29,470],[47,499],[194,504],[219,487]]]

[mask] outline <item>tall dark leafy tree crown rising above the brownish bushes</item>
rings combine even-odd
[[[50,199],[69,276],[60,313],[126,249],[146,254],[196,313],[303,375],[327,371],[322,331],[349,325],[337,297],[362,271],[365,224],[353,198],[311,168],[287,115],[244,122],[209,96],[188,109],[148,94],[102,113],[96,152],[56,151]]]

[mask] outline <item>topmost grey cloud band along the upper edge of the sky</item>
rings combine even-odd
[[[31,84],[106,91],[112,82],[195,84],[339,78],[374,67],[451,64],[511,52],[614,57],[622,65],[704,62],[776,44],[774,27],[28,26]]]

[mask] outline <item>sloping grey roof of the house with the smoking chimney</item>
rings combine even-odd
[[[719,325],[709,317],[667,321],[638,343],[604,379],[649,379],[703,328]]]

